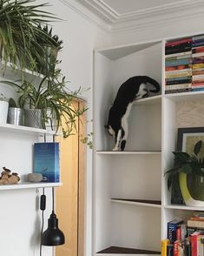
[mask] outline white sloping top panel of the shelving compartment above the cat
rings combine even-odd
[[[109,57],[110,60],[116,60],[120,57],[125,57],[136,51],[144,50],[155,44],[161,44],[161,41],[145,42],[140,44],[119,45],[111,48],[104,48],[104,49],[98,49],[98,50],[96,49],[95,51],[101,53],[105,57]]]

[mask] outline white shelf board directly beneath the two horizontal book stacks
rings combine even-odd
[[[189,91],[181,93],[165,94],[166,98],[174,102],[188,101],[188,100],[201,100],[204,99],[204,91]]]

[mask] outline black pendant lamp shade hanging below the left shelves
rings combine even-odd
[[[48,219],[48,229],[43,232],[41,243],[43,246],[61,246],[65,243],[63,232],[58,228],[58,219],[54,211]]]

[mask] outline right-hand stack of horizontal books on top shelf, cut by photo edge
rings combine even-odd
[[[204,90],[204,35],[192,38],[192,91]]]

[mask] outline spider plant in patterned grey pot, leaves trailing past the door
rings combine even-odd
[[[73,107],[73,100],[80,93],[80,89],[74,92],[68,91],[65,77],[62,77],[60,70],[57,70],[53,77],[43,77],[38,86],[26,80],[22,84],[10,81],[1,82],[17,88],[18,101],[25,109],[25,125],[45,129],[49,121],[53,124],[54,118],[55,130],[58,131],[59,127],[63,127],[63,136],[68,137],[76,129],[76,117],[86,111],[86,109]],[[36,115],[39,119],[33,120],[34,123],[28,120],[30,111],[31,117],[34,117],[33,112],[37,111]],[[62,125],[63,123],[65,126]]]

